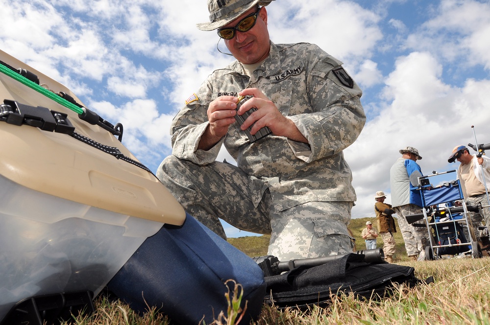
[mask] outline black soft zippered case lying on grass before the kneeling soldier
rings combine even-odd
[[[413,267],[363,260],[364,255],[352,253],[318,266],[301,266],[266,277],[265,302],[278,308],[308,310],[313,305],[328,305],[331,295],[353,292],[357,299],[380,299],[392,294],[394,283],[413,287],[423,282],[415,277]]]

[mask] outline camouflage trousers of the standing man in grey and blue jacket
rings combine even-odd
[[[405,250],[408,256],[418,255],[422,249],[422,237],[428,237],[429,233],[426,227],[414,227],[407,222],[407,215],[420,213],[422,208],[415,204],[406,204],[400,207],[394,207],[398,217],[398,226],[405,241]]]

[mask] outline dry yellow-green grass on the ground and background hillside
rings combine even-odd
[[[366,221],[354,219],[350,225],[357,239],[357,249],[364,249],[360,238]],[[334,297],[329,307],[314,307],[303,313],[294,308],[279,311],[264,305],[255,325],[327,325],[327,324],[489,324],[490,325],[490,258],[453,258],[436,261],[408,261],[401,234],[395,235],[395,262],[412,266],[419,279],[430,276],[435,282],[407,289],[398,286],[395,294],[379,302],[358,301],[352,295]],[[266,255],[268,236],[230,238],[237,248],[249,256]],[[378,240],[382,247],[382,240]],[[96,298],[96,311],[76,319],[77,325],[168,325],[170,321],[154,309],[143,317],[134,314],[122,302]],[[225,312],[226,313],[226,312]],[[227,315],[224,315],[225,317]],[[234,317],[228,317],[232,319]],[[215,325],[233,324],[221,318]],[[241,323],[240,323],[241,324]]]

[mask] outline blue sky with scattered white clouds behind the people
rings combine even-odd
[[[233,59],[218,52],[214,31],[196,28],[208,21],[206,0],[0,0],[0,8],[0,49],[122,123],[123,144],[155,173],[172,154],[173,116]],[[490,1],[274,0],[266,9],[272,42],[317,44],[363,90],[367,122],[344,150],[352,218],[374,217],[376,191],[391,202],[400,149],[417,148],[430,175],[457,168],[447,163],[455,146],[490,142]],[[223,159],[233,161],[224,149]],[[225,232],[251,235],[227,224]]]

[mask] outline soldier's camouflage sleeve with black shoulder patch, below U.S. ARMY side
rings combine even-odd
[[[366,123],[362,91],[342,63],[323,51],[311,51],[309,56],[307,89],[313,113],[289,116],[308,139],[311,153],[307,162],[341,152],[357,139]]]

